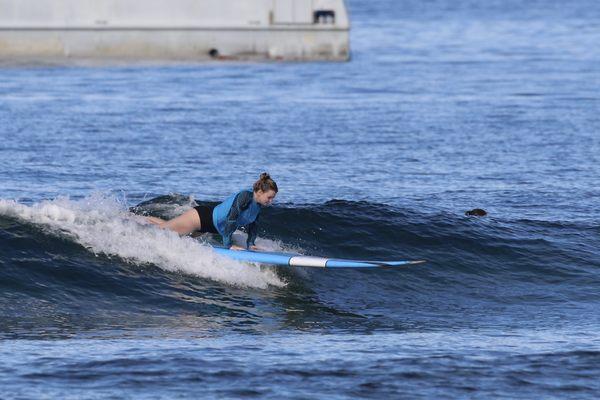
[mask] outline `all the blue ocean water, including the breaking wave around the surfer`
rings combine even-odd
[[[600,6],[347,5],[349,63],[0,69],[0,398],[600,396]],[[259,245],[428,263],[129,212],[262,171]]]

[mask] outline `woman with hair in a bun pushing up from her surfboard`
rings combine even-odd
[[[277,191],[275,181],[264,172],[254,183],[252,190],[235,193],[216,207],[197,206],[168,221],[156,217],[147,218],[151,223],[180,235],[194,231],[218,233],[223,237],[223,245],[233,250],[244,250],[243,247],[232,245],[231,235],[237,228],[245,226],[248,233],[246,248],[258,250],[254,244],[258,216],[262,207],[273,202]]]

